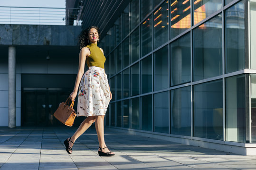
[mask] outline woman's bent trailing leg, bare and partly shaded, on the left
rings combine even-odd
[[[94,122],[95,122],[95,116],[89,116],[87,117],[82,123],[81,125],[78,127],[78,129],[76,130],[76,132],[74,133],[73,136],[71,136],[71,141],[75,143],[76,139],[81,136],[85,130],[88,129],[88,127],[90,127]],[[69,140],[69,138],[67,139]],[[69,146],[72,147],[73,143],[69,142]]]

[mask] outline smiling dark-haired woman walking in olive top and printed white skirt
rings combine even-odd
[[[79,37],[80,53],[76,83],[69,98],[74,101],[78,92],[77,116],[87,117],[75,134],[64,141],[66,152],[71,154],[76,139],[95,122],[99,140],[99,156],[114,156],[104,142],[104,115],[112,99],[112,93],[104,71],[104,52],[97,46],[100,30],[96,26],[85,29]],[[88,70],[84,74],[85,61]],[[82,81],[81,81],[82,80]],[[79,83],[81,84],[79,86]],[[79,87],[79,89],[78,89]]]

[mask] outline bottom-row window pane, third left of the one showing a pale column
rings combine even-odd
[[[139,97],[131,99],[132,101],[132,129],[140,128],[140,99]]]

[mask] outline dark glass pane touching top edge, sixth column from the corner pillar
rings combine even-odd
[[[139,0],[133,0],[131,2],[131,30],[133,30],[133,28],[137,26],[140,22],[139,3]]]

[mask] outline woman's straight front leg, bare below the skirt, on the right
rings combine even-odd
[[[104,115],[96,116],[95,128],[96,128],[96,131],[97,131],[99,146],[101,148],[105,148],[106,144],[105,144],[105,141],[104,141]],[[99,149],[99,151],[100,151],[100,149]],[[109,152],[109,150],[107,148],[105,148],[105,149],[102,150],[102,152],[107,153],[107,152]]]

